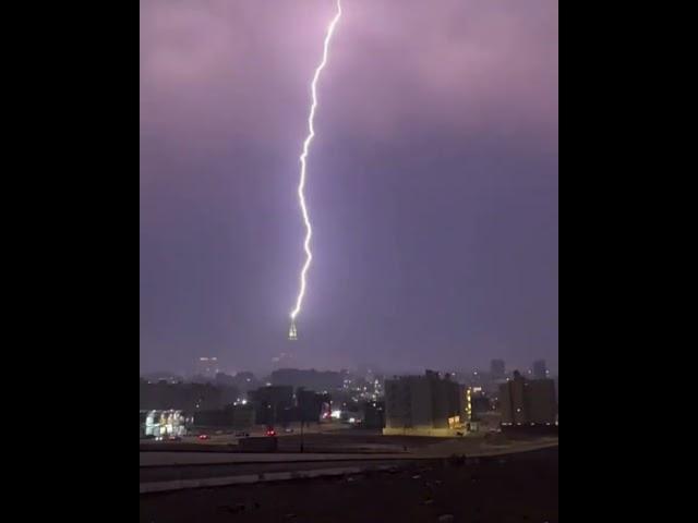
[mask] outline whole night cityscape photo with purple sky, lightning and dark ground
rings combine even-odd
[[[557,31],[140,1],[140,521],[559,521]]]

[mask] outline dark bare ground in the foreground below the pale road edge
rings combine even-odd
[[[557,448],[341,478],[141,496],[142,522],[557,522]],[[447,521],[447,520],[444,520]]]

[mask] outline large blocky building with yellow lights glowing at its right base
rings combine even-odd
[[[433,370],[385,381],[385,435],[455,436],[465,429],[465,388]]]

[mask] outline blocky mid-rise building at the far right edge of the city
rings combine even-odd
[[[557,405],[552,379],[514,378],[500,386],[502,425],[552,425]]]

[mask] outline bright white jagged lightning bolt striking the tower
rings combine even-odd
[[[296,308],[291,311],[291,333],[289,333],[289,337],[291,339],[296,339],[294,320],[296,320],[296,316],[298,316],[298,313],[300,313],[301,306],[303,304],[303,296],[305,295],[305,283],[306,283],[305,275],[308,273],[310,264],[313,260],[313,253],[310,250],[310,241],[313,238],[313,228],[310,222],[308,207],[305,205],[305,194],[303,190],[305,188],[305,167],[306,167],[308,154],[310,151],[310,144],[312,143],[313,137],[315,136],[315,127],[313,126],[313,120],[315,119],[315,111],[317,109],[317,81],[320,80],[320,74],[322,73],[323,69],[325,69],[325,65],[327,64],[329,41],[332,40],[332,35],[335,32],[335,27],[337,26],[337,23],[339,22],[340,16],[341,16],[341,0],[337,0],[337,14],[335,14],[335,17],[329,23],[329,26],[327,26],[327,34],[325,35],[325,44],[323,47],[323,59],[320,65],[317,65],[317,69],[315,69],[315,74],[313,76],[313,82],[311,84],[312,104],[310,107],[310,114],[308,115],[308,136],[303,142],[303,150],[300,156],[301,175],[300,175],[300,182],[298,184],[298,199],[300,202],[301,212],[303,215],[303,222],[305,223],[305,241],[303,242],[303,248],[305,251],[305,263],[303,264],[303,268],[301,270],[301,277],[300,277],[301,287],[298,292],[298,297],[296,299]]]

